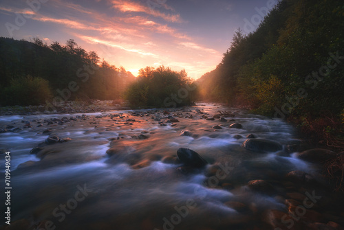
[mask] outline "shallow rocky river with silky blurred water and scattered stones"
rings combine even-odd
[[[344,226],[343,197],[321,176],[337,153],[278,119],[197,104],[1,116],[0,131],[12,171],[12,224],[0,229]]]

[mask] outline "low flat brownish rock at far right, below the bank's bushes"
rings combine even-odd
[[[297,157],[299,157],[299,159],[309,161],[312,163],[323,163],[325,161],[330,161],[336,158],[336,152],[332,152],[330,150],[325,150],[321,148],[314,148],[311,150],[299,152],[297,154]]]

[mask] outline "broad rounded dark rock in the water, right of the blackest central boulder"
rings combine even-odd
[[[242,146],[256,152],[277,152],[283,149],[280,143],[268,139],[248,139],[242,143]]]

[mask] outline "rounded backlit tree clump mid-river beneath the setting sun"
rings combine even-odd
[[[141,108],[185,106],[195,102],[195,88],[185,70],[145,67],[140,69],[125,98],[132,106]]]

